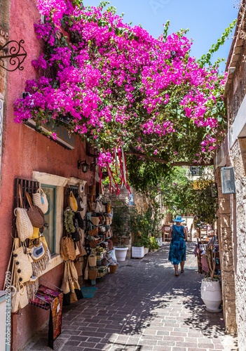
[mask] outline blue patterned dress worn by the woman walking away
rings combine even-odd
[[[170,244],[168,260],[172,265],[178,265],[186,260],[186,244],[184,241],[183,225],[172,226],[172,240]]]

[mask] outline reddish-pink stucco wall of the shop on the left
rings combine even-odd
[[[0,187],[0,289],[4,285],[4,277],[12,246],[12,220],[15,178],[32,180],[32,171],[40,171],[63,177],[76,177],[90,180],[90,171],[84,174],[77,169],[77,161],[86,159],[86,145],[76,137],[76,148],[65,150],[53,140],[33,131],[24,124],[13,121],[13,102],[21,97],[25,89],[25,81],[34,79],[38,72],[32,67],[32,60],[37,58],[42,43],[36,39],[34,22],[40,19],[35,1],[11,0],[10,40],[25,40],[27,58],[23,71],[8,74],[8,100],[4,121],[4,147],[1,166]],[[88,163],[92,159],[87,158]],[[55,285],[60,284],[63,264],[46,274],[45,279]],[[22,315],[13,316],[13,350],[25,341],[48,319],[48,313],[34,306],[27,306]]]

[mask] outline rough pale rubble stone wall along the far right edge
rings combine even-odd
[[[246,138],[238,139],[233,145],[231,162],[236,188],[233,231],[238,347],[246,350]]]

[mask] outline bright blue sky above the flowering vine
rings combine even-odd
[[[153,37],[163,32],[163,23],[170,20],[169,34],[180,28],[189,28],[187,37],[193,39],[191,55],[200,58],[207,53],[212,44],[221,37],[224,29],[238,17],[238,8],[233,0],[111,0],[117,13],[125,13],[124,21],[139,23]],[[97,6],[98,0],[84,0],[84,5]],[[233,29],[234,34],[234,29]],[[232,39],[214,54],[217,58],[226,58],[231,48]],[[225,64],[220,65],[224,70]]]

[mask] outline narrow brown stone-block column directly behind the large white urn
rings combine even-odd
[[[231,199],[230,195],[222,194],[220,169],[216,171],[219,194],[217,213],[217,230],[219,237],[219,255],[221,263],[223,313],[226,331],[235,334],[237,331],[235,317],[235,280],[233,270],[233,234],[231,230]]]

